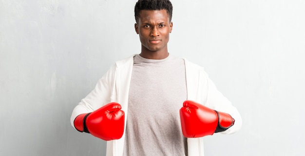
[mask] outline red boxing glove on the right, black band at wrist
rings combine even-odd
[[[180,109],[184,137],[204,137],[222,132],[234,125],[234,118],[199,103],[186,100]]]

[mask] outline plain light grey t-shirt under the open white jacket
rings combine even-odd
[[[124,156],[187,156],[179,110],[187,98],[183,59],[136,55],[129,90]]]

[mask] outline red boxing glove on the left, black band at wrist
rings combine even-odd
[[[90,133],[103,140],[119,139],[124,132],[125,114],[121,105],[112,102],[95,110],[77,116],[74,127],[79,132]]]

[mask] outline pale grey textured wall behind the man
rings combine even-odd
[[[136,0],[0,1],[0,156],[104,156],[73,108],[140,52]],[[305,155],[305,1],[172,0],[169,51],[204,66],[243,117],[206,156]]]

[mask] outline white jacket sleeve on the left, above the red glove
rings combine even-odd
[[[90,113],[103,105],[111,102],[111,96],[114,89],[115,65],[113,65],[102,78],[100,78],[93,91],[85,98],[81,99],[74,108],[71,115],[71,125],[74,127],[75,118],[83,113]]]

